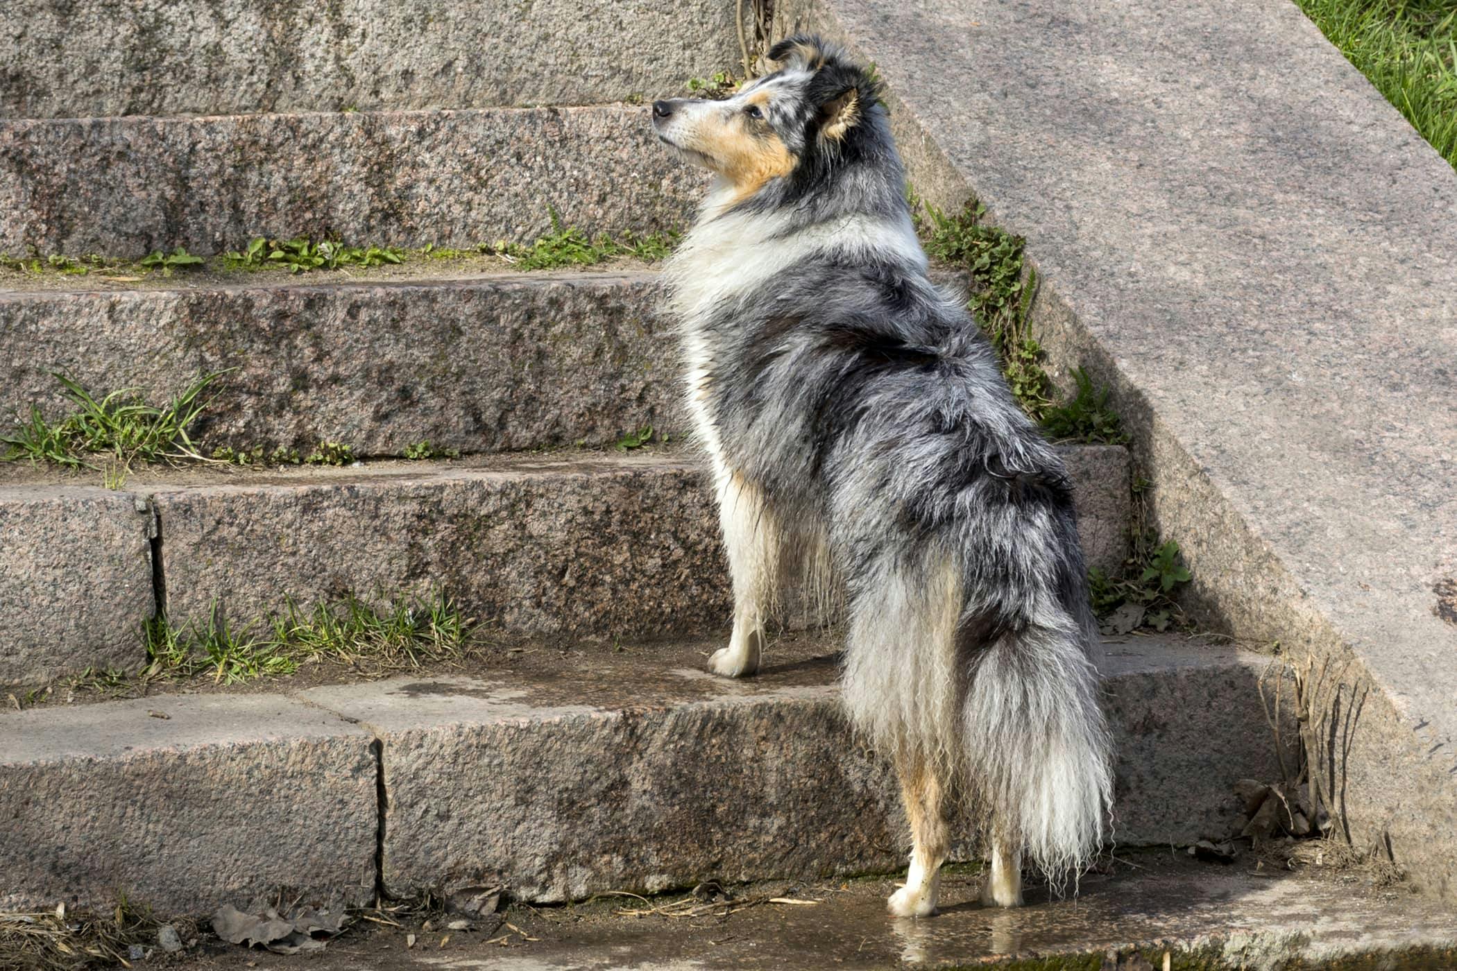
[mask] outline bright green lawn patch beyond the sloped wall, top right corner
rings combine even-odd
[[[1457,169],[1457,7],[1453,1],[1295,3]]]

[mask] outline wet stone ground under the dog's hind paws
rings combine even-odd
[[[492,917],[469,932],[373,926],[309,958],[214,945],[208,956],[181,967],[268,970],[305,961],[309,971],[768,971],[1005,961],[1096,967],[1056,959],[1083,954],[1103,958],[1104,968],[1457,968],[1457,916],[1405,887],[1375,888],[1361,871],[1291,873],[1249,856],[1220,866],[1171,852],[1120,853],[1110,872],[1084,876],[1075,898],[1029,888],[1029,905],[1013,911],[978,904],[979,885],[973,866],[950,872],[943,911],[927,920],[884,914],[892,879],[781,882],[733,888],[740,903],[761,901],[734,913],[724,913],[733,905],[685,904],[683,894],[651,901],[622,895],[568,907],[513,907],[504,922]],[[769,897],[819,903],[769,903]],[[688,910],[698,913],[682,916]],[[414,946],[407,935],[415,936]],[[1109,962],[1110,955],[1120,956]]]

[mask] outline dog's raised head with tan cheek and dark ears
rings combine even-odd
[[[785,38],[769,60],[779,70],[724,100],[653,102],[657,137],[723,176],[734,201],[852,156],[884,111],[870,74],[817,36]]]

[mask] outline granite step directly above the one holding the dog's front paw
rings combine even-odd
[[[1115,569],[1128,454],[1064,454],[1088,560]],[[696,457],[673,450],[153,469],[122,491],[25,466],[0,475],[0,684],[137,670],[163,597],[182,626],[214,606],[246,622],[288,598],[443,591],[497,635],[603,645],[728,616],[712,496]]]

